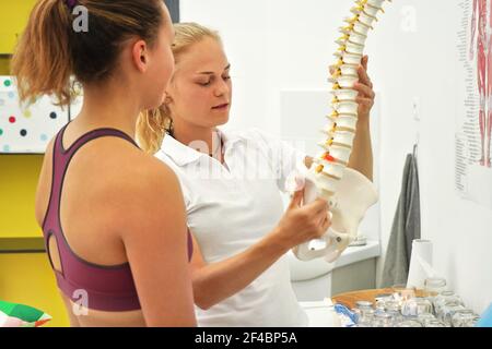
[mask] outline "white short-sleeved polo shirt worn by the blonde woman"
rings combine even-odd
[[[188,227],[206,263],[232,257],[261,240],[280,221],[280,190],[305,155],[257,130],[219,131],[223,166],[166,135],[156,157],[179,178]],[[199,146],[199,145],[198,145]],[[234,276],[232,276],[234,277]],[[196,306],[199,326],[307,326],[291,286],[286,255],[245,289],[207,311]]]

